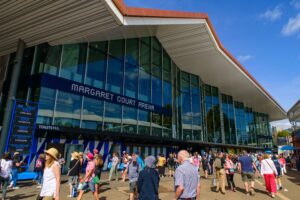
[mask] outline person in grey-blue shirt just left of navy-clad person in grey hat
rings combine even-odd
[[[136,155],[132,156],[132,160],[128,164],[128,179],[129,179],[129,199],[134,200],[137,192],[137,180],[141,168],[137,162]]]

